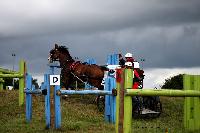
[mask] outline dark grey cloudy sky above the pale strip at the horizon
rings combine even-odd
[[[198,67],[200,1],[0,1],[0,66],[12,68],[15,52],[42,74],[54,43],[99,64],[108,54],[132,52],[146,59],[145,68]]]

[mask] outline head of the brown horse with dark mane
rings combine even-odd
[[[60,61],[60,60],[71,60],[72,57],[69,54],[68,49],[65,46],[58,46],[55,44],[55,48],[49,53],[49,62]]]

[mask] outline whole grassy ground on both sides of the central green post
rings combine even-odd
[[[103,113],[97,111],[94,96],[70,96],[62,99],[62,128],[46,130],[44,119],[44,97],[33,97],[33,116],[28,124],[25,106],[18,106],[18,91],[0,92],[1,133],[114,133],[114,125],[105,123]],[[163,113],[159,118],[135,119],[136,133],[184,133],[183,98],[161,98]]]

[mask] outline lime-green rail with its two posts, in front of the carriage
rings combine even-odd
[[[119,71],[119,70],[118,70]],[[132,129],[132,96],[185,97],[184,128],[186,131],[200,131],[200,75],[184,75],[184,90],[173,89],[130,89],[133,70],[122,69],[117,74],[116,132],[134,133]],[[119,80],[120,79],[120,80]]]

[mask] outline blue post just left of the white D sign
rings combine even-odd
[[[47,89],[47,95],[45,95],[45,119],[46,119],[46,128],[50,128],[50,83],[49,83],[49,74],[44,75],[44,86]]]

